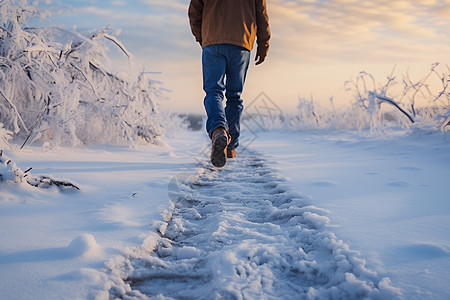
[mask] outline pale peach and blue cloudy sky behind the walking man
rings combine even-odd
[[[272,38],[266,62],[249,69],[244,104],[264,92],[283,110],[298,98],[350,103],[346,81],[377,84],[396,68],[419,80],[450,63],[450,0],[266,0]],[[38,1],[34,1],[38,3]],[[203,112],[201,48],[189,27],[189,0],[46,0],[52,22],[83,32],[111,25],[136,65],[156,72],[176,112]],[[256,48],[256,47],[255,47]],[[252,53],[252,59],[254,58]],[[117,60],[117,65],[123,65]]]

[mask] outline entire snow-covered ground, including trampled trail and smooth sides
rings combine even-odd
[[[81,190],[0,184],[0,294],[448,299],[448,136],[274,130],[220,171],[167,142],[7,152]]]

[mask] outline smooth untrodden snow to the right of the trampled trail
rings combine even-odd
[[[404,299],[450,298],[448,134],[274,130],[252,147],[330,211],[332,231]]]

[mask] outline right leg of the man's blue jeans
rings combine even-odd
[[[241,95],[250,63],[250,51],[239,46],[228,46],[225,114],[231,135],[228,147],[233,149],[239,146],[241,116],[244,109]]]

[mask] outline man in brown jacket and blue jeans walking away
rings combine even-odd
[[[236,156],[243,110],[242,90],[256,39],[256,65],[264,62],[270,29],[265,0],[191,0],[189,21],[202,46],[206,130],[211,162],[223,167]],[[222,102],[227,98],[225,109]]]

